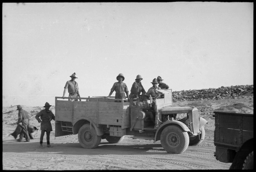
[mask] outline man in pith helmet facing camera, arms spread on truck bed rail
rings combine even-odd
[[[116,77],[118,82],[115,82],[113,84],[113,87],[110,89],[110,93],[107,97],[107,100],[112,95],[112,93],[115,91],[115,99],[125,99],[125,93],[127,95],[128,101],[130,101],[130,98],[128,96],[129,91],[127,85],[123,82],[124,81],[124,75],[122,73],[119,73],[119,75]]]

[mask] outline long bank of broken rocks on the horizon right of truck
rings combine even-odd
[[[230,87],[209,88],[201,90],[174,91],[173,100],[191,101],[204,99],[237,99],[253,96],[253,85],[236,85]]]

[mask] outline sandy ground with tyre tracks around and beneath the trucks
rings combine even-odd
[[[124,136],[119,143],[109,144],[101,140],[96,149],[83,149],[77,135],[55,137],[55,123],[50,142],[52,148],[39,148],[41,130],[35,131],[34,139],[24,143],[16,141],[12,133],[18,111],[15,107],[3,107],[3,170],[208,170],[229,169],[231,163],[215,159],[213,111],[233,110],[237,113],[253,113],[253,96],[241,99],[200,100],[175,102],[175,106],[196,107],[199,115],[208,121],[205,139],[198,146],[189,146],[182,154],[169,154],[160,141],[132,139]],[[40,129],[35,115],[42,107],[23,106],[30,115],[30,123]],[[50,108],[55,113],[55,107]]]

